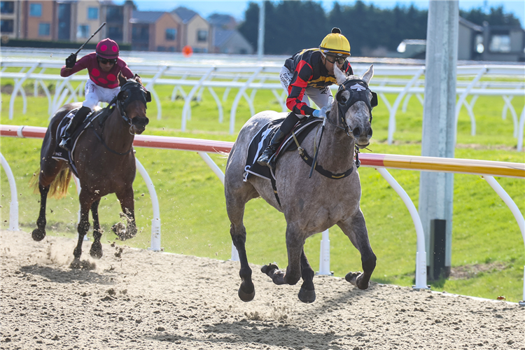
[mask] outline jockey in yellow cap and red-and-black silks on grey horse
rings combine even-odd
[[[341,34],[339,28],[333,28],[332,32],[325,36],[319,48],[305,49],[286,59],[279,78],[288,94],[286,106],[291,112],[288,113],[268,147],[258,158],[257,162],[260,165],[267,165],[273,169],[273,161],[269,162],[269,159],[272,158],[283,138],[292,131],[295,124],[304,116],[318,117],[328,110],[333,98],[329,86],[337,83],[334,65],[337,64],[337,67],[346,75],[353,74],[349,62],[346,61],[346,57],[349,56],[348,40]],[[321,110],[311,108],[308,98],[320,106]]]

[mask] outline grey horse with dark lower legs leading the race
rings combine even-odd
[[[263,125],[276,118],[283,118],[285,113],[274,111],[257,113],[239,132],[228,157],[224,184],[226,210],[231,222],[230,235],[241,262],[239,275],[242,281],[239,297],[244,302],[253,300],[255,296],[255,286],[251,280],[252,271],[246,258],[244,207],[246,202],[259,196],[281,211],[286,218],[288,267],[283,271],[275,264],[269,264],[261,269],[275,284],[295,285],[302,277],[299,299],[302,302],[314,302],[316,298],[314,269],[304,255],[304,241],[311,235],[338,225],[360,252],[363,267],[363,273],[346,274],[346,281],[360,289],[368,288],[370,276],[376,265],[376,256],[370,247],[365,218],[359,207],[361,188],[354,150],[356,145],[368,146],[372,137],[371,111],[377,103],[370,106],[370,101],[373,97],[377,101],[377,96],[368,90],[367,84],[373,75],[373,66],[370,66],[361,78],[346,76],[335,66],[339,91],[327,116],[328,123],[325,123],[321,144],[318,147],[317,165],[333,174],[341,174],[353,169],[350,175],[343,179],[330,179],[318,172],[314,172],[309,178],[311,167],[303,162],[300,155],[297,152],[285,152],[278,158],[275,170],[276,188],[281,203],[279,205],[270,181],[259,176],[251,176],[247,181],[243,181],[243,173],[248,156],[248,144],[253,136]],[[360,94],[364,98],[358,101],[355,96],[357,91],[363,91],[363,88],[352,85],[356,80],[364,82],[365,84],[362,85],[366,87],[366,90]],[[350,101],[353,104],[350,104]],[[320,134],[319,127],[309,132],[302,141],[301,147],[311,156],[314,155],[314,142],[318,142]]]

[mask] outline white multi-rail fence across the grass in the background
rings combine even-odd
[[[369,64],[355,63],[352,64],[356,74],[363,74]],[[22,113],[26,113],[27,101],[22,84],[26,80],[34,82],[34,93],[36,94],[38,86],[42,88],[48,99],[48,113],[50,116],[65,103],[78,101],[83,94],[83,82],[87,80],[87,74],[76,74],[67,78],[61,78],[56,74],[45,73],[46,69],[59,69],[62,62],[56,60],[42,61],[23,61],[20,59],[0,60],[0,78],[12,78],[15,80],[13,94],[9,102],[9,119],[13,119],[14,103],[18,94],[23,99]],[[9,71],[7,71],[9,69]],[[14,70],[20,69],[18,72]],[[232,89],[237,90],[235,99],[230,107],[230,134],[235,132],[235,117],[240,99],[245,99],[251,111],[255,114],[253,101],[258,90],[270,90],[279,102],[282,111],[287,111],[285,100],[286,93],[279,83],[280,64],[267,63],[259,64],[251,62],[250,64],[233,64],[228,63],[221,65],[214,64],[130,64],[130,69],[135,73],[144,76],[143,81],[148,90],[151,91],[153,100],[157,106],[157,118],[162,118],[162,105],[160,97],[155,91],[155,86],[168,85],[173,87],[172,101],[180,94],[184,99],[184,106],[181,112],[182,123],[181,130],[186,131],[188,121],[191,118],[190,102],[195,98],[202,99],[202,93],[207,89],[214,98],[218,109],[218,122],[223,123],[223,103],[228,98]],[[395,66],[387,64],[378,64],[374,66],[374,75],[371,88],[379,94],[381,101],[388,109],[388,144],[393,142],[395,133],[395,115],[399,107],[406,111],[409,99],[413,95],[423,104],[424,94],[424,66]],[[476,120],[473,107],[479,96],[500,96],[505,102],[501,112],[503,119],[507,118],[510,111],[514,131],[512,137],[517,139],[517,149],[523,148],[524,127],[525,127],[525,106],[518,113],[512,105],[514,97],[525,97],[525,66],[518,65],[483,65],[483,66],[458,66],[458,82],[456,84],[456,93],[458,102],[456,103],[456,125],[459,111],[463,106],[468,112],[470,118],[470,132],[476,134]],[[394,78],[393,78],[394,77]],[[400,77],[400,78],[395,78]],[[406,78],[411,77],[411,78]],[[491,78],[491,80],[482,80],[482,78]],[[510,80],[510,81],[506,81]],[[55,82],[55,92],[51,94],[45,82]],[[80,82],[73,88],[71,82]],[[190,87],[190,92],[186,92],[183,87]],[[222,98],[218,97],[214,88],[225,88]],[[332,89],[337,86],[332,85]],[[247,90],[251,90],[248,95]],[[386,94],[395,94],[395,101],[391,103]],[[468,101],[470,97],[470,101]],[[519,111],[518,111],[519,112]]]

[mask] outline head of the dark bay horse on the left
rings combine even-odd
[[[126,79],[118,73],[118,81],[120,92],[117,95],[117,106],[120,115],[130,125],[131,134],[142,134],[149,123],[146,104],[151,102],[151,93],[144,88],[138,74],[133,79]]]

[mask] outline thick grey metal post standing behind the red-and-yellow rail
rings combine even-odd
[[[458,0],[430,0],[426,34],[425,100],[421,155],[454,158],[456,136],[456,65],[458,57]],[[454,174],[421,172],[419,216],[430,261],[430,220],[446,225],[445,267],[451,266]]]

